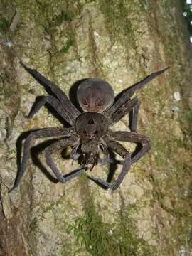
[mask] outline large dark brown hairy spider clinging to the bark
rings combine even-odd
[[[118,97],[114,97],[111,85],[101,78],[90,78],[80,83],[77,90],[77,99],[81,107],[78,110],[68,99],[65,93],[53,82],[45,78],[36,70],[23,68],[33,76],[40,84],[48,87],[53,95],[44,96],[41,101],[34,104],[28,117],[33,117],[43,105],[48,103],[58,112],[60,117],[70,124],[69,128],[49,127],[31,132],[23,144],[23,157],[21,169],[16,176],[13,191],[21,181],[30,154],[31,142],[43,137],[56,137],[58,140],[50,144],[45,149],[46,164],[55,174],[58,181],[66,183],[72,178],[79,176],[87,169],[92,169],[98,162],[104,164],[110,162],[109,149],[122,157],[122,170],[114,183],[109,183],[101,178],[89,176],[92,181],[104,188],[117,189],[122,183],[132,164],[138,161],[146,152],[151,149],[151,140],[142,134],[137,133],[137,117],[139,112],[139,100],[137,97],[131,98],[139,89],[142,89],[149,81],[164,73],[168,68],[159,70],[156,73],[144,78],[144,80],[123,90]],[[112,132],[113,124],[119,122],[125,114],[130,114],[130,132]],[[63,122],[64,123],[64,122]],[[130,153],[119,142],[134,142],[139,144],[139,150]],[[72,171],[70,174],[62,175],[52,159],[52,152],[56,150],[72,147],[70,158],[75,161],[80,160],[81,169]],[[100,159],[102,151],[104,159]],[[80,157],[81,156],[81,157]],[[90,167],[92,166],[92,167]]]

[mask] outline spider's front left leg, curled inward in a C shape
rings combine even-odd
[[[66,182],[70,181],[70,179],[75,178],[76,176],[79,176],[80,174],[82,174],[84,171],[87,171],[87,169],[88,169],[87,167],[81,168],[76,171],[72,171],[70,174],[63,176],[62,174],[60,174],[58,167],[55,165],[55,163],[51,157],[51,152],[55,149],[58,150],[58,149],[64,149],[68,146],[73,146],[74,143],[75,143],[74,139],[65,138],[65,139],[60,139],[60,141],[55,142],[46,148],[46,164],[48,164],[48,166],[53,171],[55,176],[62,183],[66,183]]]

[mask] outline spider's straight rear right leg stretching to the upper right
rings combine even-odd
[[[110,107],[108,110],[106,110],[104,112],[105,116],[107,118],[112,117],[112,114],[114,114],[114,112],[116,112],[119,109],[119,107],[121,107],[124,104],[124,102],[127,102],[127,100],[129,100],[130,97],[132,97],[132,95],[134,95],[134,92],[136,92],[137,90],[142,89],[142,87],[144,87],[144,85],[146,85],[148,82],[150,82],[151,80],[153,80],[157,76],[164,73],[167,69],[169,69],[169,68],[165,68],[165,69],[159,70],[155,73],[151,73],[151,75],[148,75],[142,81],[137,82],[135,85],[132,85],[131,87],[122,91],[121,95],[119,96],[117,101],[114,103],[114,105],[112,105],[112,107]]]

